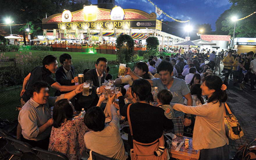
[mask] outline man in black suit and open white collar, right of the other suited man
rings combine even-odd
[[[106,58],[98,58],[95,64],[95,68],[88,70],[84,74],[84,81],[93,81],[93,89],[91,95],[83,96],[82,93],[78,95],[77,103],[75,104],[75,109],[77,111],[81,111],[82,108],[87,111],[87,109],[89,109],[90,107],[97,106],[97,103],[99,101],[97,93],[102,93],[102,90],[104,88],[102,86],[102,83],[104,83],[104,79],[106,78],[105,71],[107,65],[108,61]]]

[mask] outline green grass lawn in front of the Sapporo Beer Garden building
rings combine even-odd
[[[14,58],[16,54],[19,54],[21,51],[22,54],[29,54],[29,52],[32,53],[33,56],[38,56],[39,54],[52,54],[57,57],[57,61],[59,63],[59,56],[63,53],[68,53],[72,56],[73,63],[76,63],[80,60],[88,60],[95,61],[99,57],[105,57],[108,61],[116,61],[116,55],[115,54],[89,54],[89,53],[83,53],[83,52],[61,52],[61,51],[35,51],[35,50],[19,50],[17,52],[5,52],[5,56],[8,56],[9,58]],[[1,53],[0,53],[1,54]],[[111,64],[110,64],[111,66]]]

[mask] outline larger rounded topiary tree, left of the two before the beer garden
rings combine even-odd
[[[116,39],[117,59],[119,63],[129,63],[134,56],[134,40],[130,35],[120,35]]]

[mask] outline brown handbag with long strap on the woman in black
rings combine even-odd
[[[130,121],[130,110],[131,104],[127,108],[127,118],[129,122],[129,127],[132,134],[131,121]],[[133,139],[133,138],[132,138]],[[140,143],[133,139],[133,151],[131,151],[132,160],[167,160],[167,149],[164,150],[163,154],[159,157],[154,155],[154,151],[157,151],[159,147],[159,140],[152,143]]]

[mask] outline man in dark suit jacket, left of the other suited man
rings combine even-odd
[[[72,66],[72,57],[69,54],[60,56],[61,67],[55,73],[56,81],[62,86],[74,86],[78,82],[78,77],[74,77],[74,66]],[[60,96],[67,92],[56,91],[55,96]]]

